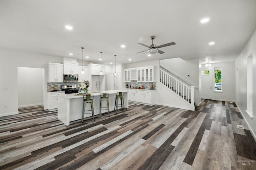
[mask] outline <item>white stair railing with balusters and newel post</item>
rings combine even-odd
[[[191,107],[194,107],[194,88],[195,86],[188,86],[181,82],[168,72],[160,68],[160,82],[168,89],[174,92],[177,96],[182,98]]]

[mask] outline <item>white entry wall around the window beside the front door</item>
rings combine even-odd
[[[221,81],[222,81],[222,92],[214,92],[213,91],[213,100],[221,100],[221,101],[235,101],[235,62],[231,63],[216,63],[210,66],[212,68],[213,77],[212,77],[212,87],[214,87],[214,68],[221,67]],[[206,68],[204,64],[202,64],[202,68]],[[240,85],[241,87],[241,85]]]

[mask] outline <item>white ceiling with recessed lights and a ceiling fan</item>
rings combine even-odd
[[[102,51],[106,64],[114,55],[116,64],[233,62],[256,29],[256,0],[0,0],[0,11],[0,48],[81,60],[85,47],[86,61],[99,63]],[[156,46],[176,45],[161,48],[162,55],[135,54],[147,50],[137,43],[150,45],[151,35]]]

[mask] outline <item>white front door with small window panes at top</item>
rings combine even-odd
[[[201,98],[212,100],[212,68],[202,68],[201,83]]]

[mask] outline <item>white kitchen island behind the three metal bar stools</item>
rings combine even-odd
[[[124,107],[128,108],[128,91],[126,90],[107,90],[104,92],[91,92],[94,95],[93,98],[93,107],[94,107],[94,116],[100,114],[100,94],[108,93],[109,94],[109,110],[113,111],[115,107],[116,93],[124,92]],[[83,96],[76,96],[76,94],[63,94],[58,96],[58,119],[62,121],[65,125],[69,125],[71,121],[82,119],[82,110],[83,110]],[[120,100],[119,103],[120,104]],[[106,101],[102,102],[102,111],[101,113],[106,113],[108,110],[103,110],[106,107]],[[120,106],[120,105],[119,105]],[[118,107],[121,108],[121,107]],[[89,110],[89,111],[87,111]],[[92,117],[92,111],[90,104],[86,104],[84,118]]]

